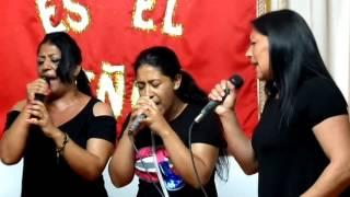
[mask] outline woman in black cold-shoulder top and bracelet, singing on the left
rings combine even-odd
[[[107,196],[102,172],[114,150],[116,120],[93,97],[82,56],[67,33],[45,35],[37,49],[38,79],[8,114],[1,160],[22,158],[22,196]]]

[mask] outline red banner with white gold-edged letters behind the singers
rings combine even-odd
[[[83,68],[118,123],[130,111],[131,63],[145,47],[166,45],[209,91],[219,80],[244,78],[236,112],[252,135],[257,123],[255,70],[245,57],[256,0],[15,0],[1,3],[0,124],[25,84],[37,77],[36,49],[45,33],[66,31],[83,51]],[[1,132],[0,132],[1,135]]]

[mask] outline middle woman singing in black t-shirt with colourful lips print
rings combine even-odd
[[[211,114],[191,126],[208,102],[207,94],[167,47],[141,51],[135,73],[140,99],[109,163],[114,185],[125,186],[136,174],[138,196],[218,196],[215,165],[219,173],[225,170],[224,160],[218,160],[224,144],[219,118]],[[132,128],[140,116],[140,127]]]

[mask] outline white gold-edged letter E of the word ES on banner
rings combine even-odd
[[[67,27],[62,22],[57,26],[52,26],[50,18],[55,15],[55,7],[46,7],[47,0],[36,0],[36,7],[39,12],[44,30],[46,33],[67,31]]]

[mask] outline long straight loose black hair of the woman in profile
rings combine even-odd
[[[331,81],[320,57],[314,35],[304,19],[291,10],[264,14],[253,27],[268,37],[272,79],[266,81],[268,96],[280,100],[281,121],[290,124],[294,114],[296,91],[310,78]]]

